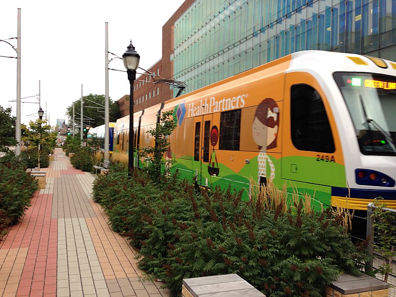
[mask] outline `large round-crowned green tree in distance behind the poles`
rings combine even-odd
[[[98,127],[100,125],[104,124],[104,113],[100,112],[103,111],[103,108],[100,108],[102,106],[104,106],[104,95],[94,95],[94,94],[90,94],[88,96],[83,96],[83,113],[84,113],[84,117],[90,117],[93,118],[94,120],[91,122],[92,127]],[[93,102],[96,102],[98,104],[95,104]],[[88,107],[88,106],[94,106],[94,107],[99,107],[99,108],[93,108],[93,107]],[[76,101],[74,101],[74,112],[76,113],[80,113],[81,111],[81,99],[78,99]],[[118,107],[118,102],[117,101],[113,101],[111,99],[109,99],[109,118],[110,118],[110,122],[115,122],[117,120],[117,118],[119,118],[119,107]],[[67,112],[66,112],[67,116],[68,116],[68,121],[69,123],[72,122],[73,120],[73,104],[71,104],[69,107],[67,107]],[[80,120],[76,120],[76,118],[80,118],[79,115],[75,115],[75,121],[76,122],[80,122]]]

